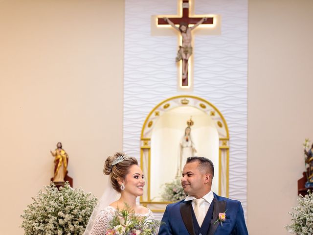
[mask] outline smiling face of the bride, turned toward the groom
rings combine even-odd
[[[143,187],[145,185],[142,170],[138,165],[132,165],[125,177],[125,192],[129,192],[135,196],[142,196]]]

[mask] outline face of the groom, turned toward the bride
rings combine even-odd
[[[184,166],[181,177],[181,186],[184,192],[196,198],[202,197],[205,174],[198,167],[198,162],[187,163]]]

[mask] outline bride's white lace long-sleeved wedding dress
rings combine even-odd
[[[146,216],[147,219],[154,219],[152,211],[149,211],[145,214],[135,214],[140,216]],[[89,232],[89,235],[104,235],[107,229],[109,228],[109,223],[115,215],[116,209],[107,206],[103,210],[101,210],[95,219],[93,226]]]

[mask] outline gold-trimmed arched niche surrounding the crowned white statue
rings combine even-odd
[[[210,158],[215,165],[212,189],[219,195],[228,196],[227,123],[221,112],[207,100],[179,95],[156,105],[141,130],[140,165],[148,186],[144,188],[140,203],[153,211],[162,212],[170,203],[162,202],[156,194],[160,186],[166,183],[164,178],[171,180],[175,177],[179,139],[190,116],[195,122],[192,134],[198,151],[196,155]]]

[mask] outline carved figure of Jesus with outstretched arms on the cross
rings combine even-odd
[[[194,24],[192,27],[189,27],[187,23],[180,22],[179,27],[177,27],[172,21],[170,21],[167,17],[164,17],[164,21],[170,24],[173,28],[178,30],[182,37],[182,44],[179,46],[179,50],[177,52],[176,62],[182,60],[182,79],[186,79],[188,77],[188,59],[192,54],[192,46],[191,46],[191,30],[195,29],[197,26],[202,24],[207,20],[206,17],[203,17],[198,23]]]

